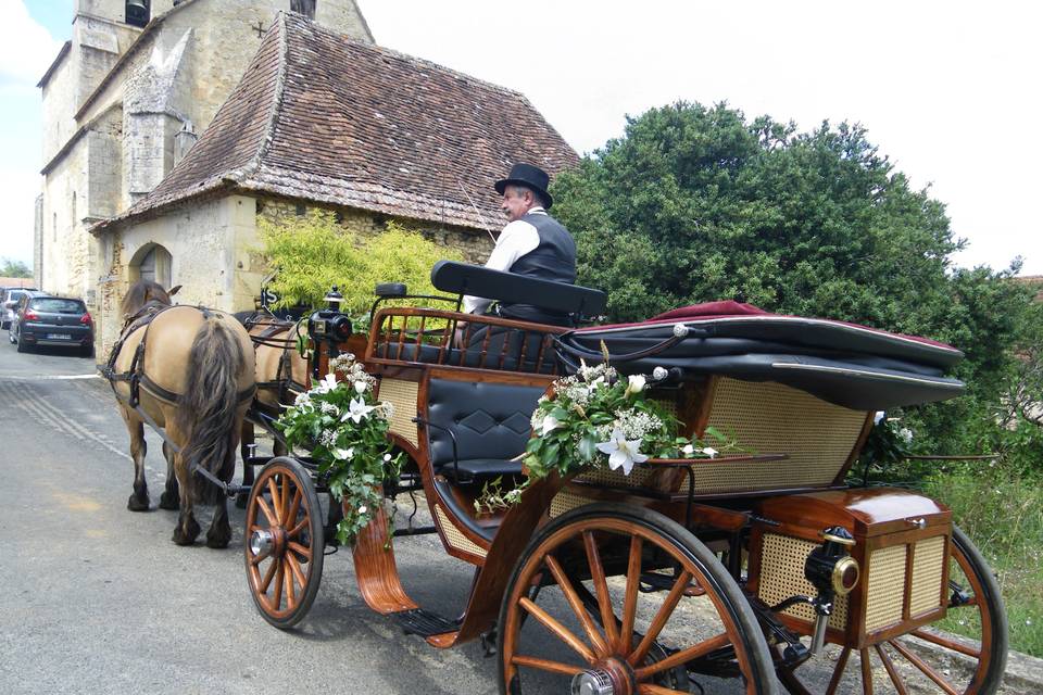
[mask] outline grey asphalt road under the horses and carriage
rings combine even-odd
[[[230,508],[227,549],[171,542],[176,513],[155,508],[165,464],[148,430],[152,510],[128,511],[127,434],[93,363],[0,342],[0,694],[497,692],[480,645],[437,650],[372,612],[347,551],[326,558],[298,629],[268,626],[247,590],[241,510]],[[397,540],[395,555],[420,605],[460,614],[469,566],[431,535]],[[835,654],[819,658],[802,672],[825,686]]]

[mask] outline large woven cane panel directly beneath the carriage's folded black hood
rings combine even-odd
[[[745,450],[789,459],[692,466],[703,493],[830,484],[854,448],[866,413],[827,403],[775,382],[720,379],[709,425],[733,433]],[[688,490],[688,478],[681,483]]]

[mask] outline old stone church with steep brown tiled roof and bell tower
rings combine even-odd
[[[100,355],[138,278],[252,308],[260,217],[395,219],[480,262],[492,181],[578,161],[523,94],[375,46],[353,0],[77,0],[40,86],[38,278],[87,300]]]

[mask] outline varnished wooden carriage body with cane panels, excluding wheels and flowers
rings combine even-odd
[[[450,280],[445,281],[443,276],[440,289],[487,295],[481,291],[482,269],[474,274],[456,267],[449,270]],[[573,288],[564,298],[540,298],[546,289],[538,285],[522,288],[518,294],[503,299],[532,301],[536,296],[566,311],[588,313],[583,309],[591,306],[599,311],[596,301]],[[423,489],[445,552],[476,568],[463,616],[452,620],[424,610],[403,589],[387,519],[382,511],[378,514],[353,548],[356,578],[369,607],[399,617],[407,632],[444,648],[495,629],[498,615],[501,623],[510,615],[501,614],[501,606],[524,601],[518,598],[520,590],[512,582],[525,574],[529,563],[527,546],[532,539],[542,538],[540,529],[557,528],[555,520],[580,518],[576,514],[594,508],[591,505],[601,509],[603,505],[596,506],[601,503],[617,505],[604,508],[650,510],[681,525],[720,558],[731,580],[741,585],[737,591],[742,592],[751,607],[744,610],[755,610],[765,624],[778,623],[778,630],[789,630],[797,636],[810,635],[815,630],[810,605],[805,602],[778,606],[794,596],[814,596],[815,587],[804,576],[808,556],[820,546],[828,527],[850,530],[854,536],[852,555],[860,567],[862,579],[850,594],[837,597],[825,640],[843,647],[844,661],[850,650],[862,655],[863,687],[869,688],[866,692],[871,691],[865,666],[868,649],[877,649],[894,680],[881,645],[894,646],[895,637],[919,632],[943,618],[953,605],[950,568],[954,554],[959,552],[950,511],[908,491],[850,489],[845,479],[872,428],[872,405],[881,402],[881,394],[894,392],[899,395],[891,397],[914,403],[918,399],[946,397],[960,386],[941,377],[939,365],[923,367],[915,359],[903,361],[925,351],[941,354],[941,362],[954,355],[935,350],[934,345],[903,342],[905,337],[889,342],[877,331],[856,327],[847,333],[854,336],[855,343],[872,345],[876,353],[869,357],[856,355],[838,366],[837,355],[822,344],[829,327],[781,321],[781,329],[778,323],[750,328],[749,321],[740,320],[736,324],[738,330],[729,326],[731,332],[725,331],[727,334],[716,345],[709,344],[712,340],[703,341],[709,345],[705,367],[687,372],[681,369],[674,378],[652,384],[650,396],[675,414],[682,425],[681,434],[702,435],[707,428],[715,428],[730,432],[741,450],[750,453],[694,460],[652,459],[629,476],[601,468],[580,471],[569,479],[551,476],[530,485],[520,504],[480,513],[475,501],[483,485],[500,479],[510,488],[512,481],[522,479],[520,454],[531,433],[530,416],[539,397],[565,369],[562,352],[570,349],[565,339],[571,340],[573,357],[582,356],[585,351],[592,356],[595,341],[603,340],[605,330],[613,329],[583,336],[569,327],[472,316],[454,309],[458,309],[458,304],[449,309],[395,306],[376,311],[363,356],[366,370],[377,378],[376,397],[393,405],[393,443],[411,460],[404,476],[409,484],[401,489]],[[704,331],[704,339],[719,337],[707,329],[706,321],[684,317],[663,321],[667,331],[664,334],[668,336],[670,330],[677,334],[670,328],[676,323],[687,324],[689,331]],[[733,343],[746,340],[742,331],[757,331],[765,326],[769,331],[781,331],[768,341],[771,352],[766,357],[741,355],[733,359],[725,354]],[[624,333],[624,346],[640,357],[630,366],[632,371],[651,371],[650,359],[663,359],[669,367],[699,364],[689,355],[648,349],[649,341],[661,345],[670,342],[669,338],[664,342],[659,330],[663,327],[653,326],[648,336],[636,338],[632,331]],[[795,351],[796,359],[778,354],[786,336],[801,336],[804,341]],[[845,343],[837,352],[847,358],[857,351]],[[730,368],[728,364],[738,366]],[[805,378],[810,384],[807,388],[801,386]],[[845,380],[855,384],[854,391],[864,387],[859,393],[870,395],[845,389]],[[606,557],[605,567],[599,571],[608,571],[612,561]],[[629,560],[624,557],[623,561],[623,566],[612,565],[612,570],[621,567],[625,572],[626,561],[633,566],[636,560],[631,553]],[[963,556],[960,566],[967,567]],[[555,581],[562,579],[561,571],[561,567],[553,570]],[[596,580],[598,572],[580,572],[579,580]],[[645,579],[642,573],[642,581]],[[548,570],[526,581],[546,582]],[[976,591],[980,593],[985,580],[978,581]],[[678,591],[675,585],[671,595]],[[629,580],[627,592],[631,592]],[[998,598],[989,601],[995,603]],[[995,622],[996,612],[993,605],[988,615],[990,621]],[[499,627],[504,629],[503,624]],[[607,623],[603,622],[602,629],[606,635],[612,634]],[[997,678],[992,654],[1002,653],[1003,644],[998,635],[992,634],[997,630],[988,630],[990,644],[983,643],[981,652],[988,650],[991,660],[981,659],[983,666],[967,692],[989,692]],[[596,643],[596,630],[590,632]],[[501,643],[501,648],[512,650],[511,640]],[[778,644],[781,654],[786,644]],[[582,647],[577,648],[585,653]],[[967,653],[964,647],[957,650]],[[680,657],[675,657],[680,662]],[[772,658],[783,683],[802,692],[802,686],[787,679],[806,660],[806,655]],[[739,660],[742,661],[741,655]],[[614,667],[603,661],[598,661],[599,673],[615,678]],[[688,667],[695,661],[690,660]],[[515,666],[503,668],[510,675]],[[541,668],[564,672],[566,667],[546,661]],[[842,670],[843,665],[839,668]],[[998,670],[1002,672],[1002,662]],[[747,672],[743,675],[750,680]],[[928,675],[937,680],[937,674]],[[834,673],[833,680],[837,679]],[[616,692],[631,692],[627,687],[630,686]],[[650,687],[639,691],[675,692]],[[747,691],[774,692],[772,686],[765,687],[759,690],[762,685],[757,684]],[[830,690],[835,687],[833,683]]]

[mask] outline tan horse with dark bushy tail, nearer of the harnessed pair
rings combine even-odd
[[[163,288],[150,281],[130,288],[123,312],[126,324],[104,371],[130,434],[134,494],[127,508],[149,508],[148,422],[165,433],[167,479],[160,507],[180,509],[174,542],[190,545],[199,535],[192,506],[200,502],[216,505],[206,545],[225,547],[231,528],[224,490],[193,466],[224,482],[231,480],[242,418],[254,390],[250,336],[230,314],[172,306]]]

